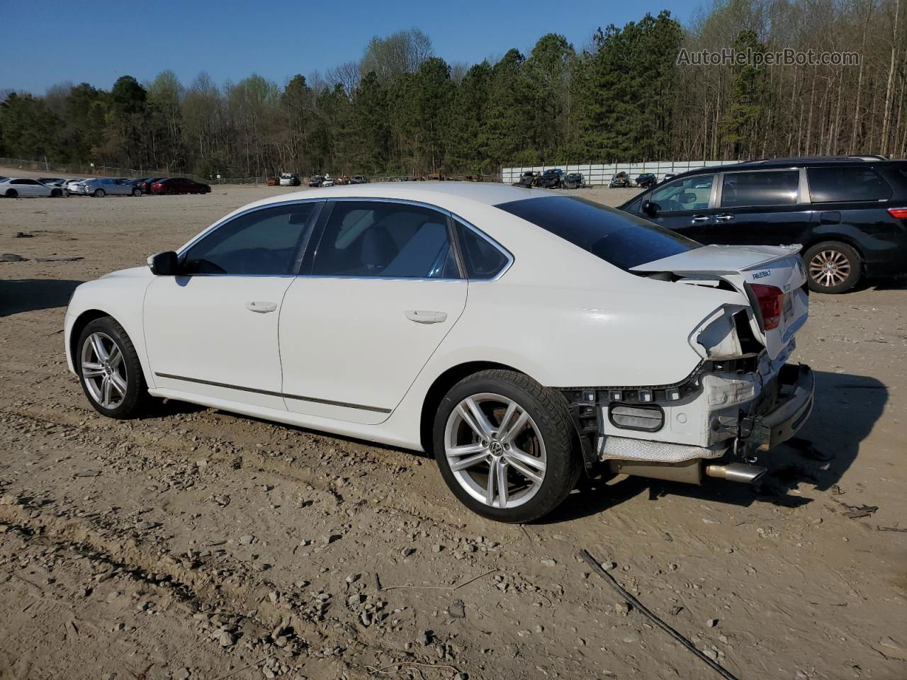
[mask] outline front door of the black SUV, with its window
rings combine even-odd
[[[642,217],[700,240],[707,237],[709,226],[715,222],[715,193],[714,172],[674,180],[643,199]]]

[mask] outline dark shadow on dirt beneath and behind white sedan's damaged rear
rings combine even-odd
[[[813,501],[812,491],[834,492],[887,402],[888,388],[873,377],[816,371],[813,413],[794,439],[758,456],[756,464],[768,472],[755,485],[706,479],[696,486],[641,477],[617,479],[605,472],[580,479],[577,490],[540,523],[597,514],[647,491],[652,501],[685,496],[740,507],[806,505]]]

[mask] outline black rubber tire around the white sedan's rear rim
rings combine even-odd
[[[457,481],[447,459],[444,438],[448,419],[464,399],[482,393],[500,394],[516,402],[529,414],[541,434],[546,453],[544,477],[538,491],[515,508],[492,507],[473,498]],[[501,522],[537,520],[567,498],[580,476],[580,460],[573,448],[574,438],[571,415],[561,394],[542,387],[528,375],[514,371],[494,369],[464,378],[444,395],[434,417],[434,459],[448,488],[476,514]]]

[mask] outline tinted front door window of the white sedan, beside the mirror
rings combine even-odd
[[[186,251],[186,274],[285,276],[297,257],[316,203],[291,203],[231,219]]]

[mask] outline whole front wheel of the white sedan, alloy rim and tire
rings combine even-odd
[[[149,399],[148,385],[132,340],[112,316],[83,328],[73,358],[95,411],[118,419],[141,414]]]

